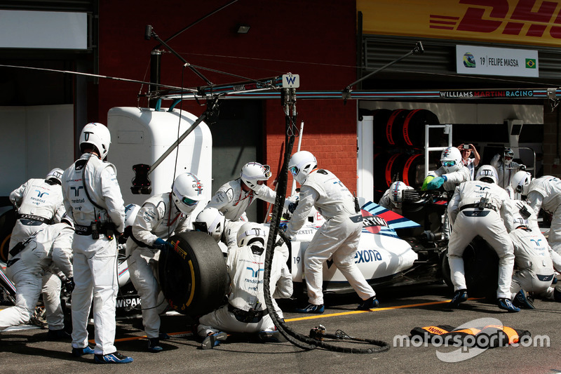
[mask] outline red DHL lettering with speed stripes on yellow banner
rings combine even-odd
[[[543,0],[459,0],[464,15],[431,14],[431,29],[561,39],[561,6]]]

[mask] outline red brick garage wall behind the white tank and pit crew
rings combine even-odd
[[[150,52],[158,42],[144,39],[145,26],[152,25],[165,40],[224,4],[223,0],[162,0],[154,6],[146,0],[100,0],[100,74],[149,80]],[[238,23],[250,25],[250,32],[237,34]],[[169,45],[193,65],[252,79],[291,72],[300,76],[299,90],[327,91],[342,90],[356,80],[355,40],[355,0],[238,1],[189,28]],[[205,84],[191,70],[182,69],[182,62],[171,53],[163,53],[161,66],[162,84]],[[244,80],[200,71],[216,84]],[[95,120],[107,121],[111,107],[147,107],[146,98],[137,98],[146,91],[147,85],[100,80]],[[280,100],[264,101],[264,155],[277,175],[285,118]],[[163,102],[162,107],[169,104]],[[182,109],[200,115],[204,107],[185,100]],[[320,167],[337,174],[354,191],[355,102],[299,100],[297,109],[298,126],[302,120],[305,123],[302,149],[315,154]]]

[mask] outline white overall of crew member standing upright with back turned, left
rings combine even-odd
[[[67,214],[76,225],[72,242],[76,283],[72,292],[72,347],[88,345],[86,328],[93,300],[94,353],[111,354],[117,350],[114,346],[115,304],[119,290],[117,241],[101,232],[95,239],[87,229],[91,228],[92,222],[97,221],[101,228],[110,221],[116,232],[123,232],[125,207],[116,169],[93,154],[83,154],[62,175],[62,194]],[[90,199],[102,208],[97,208]]]

